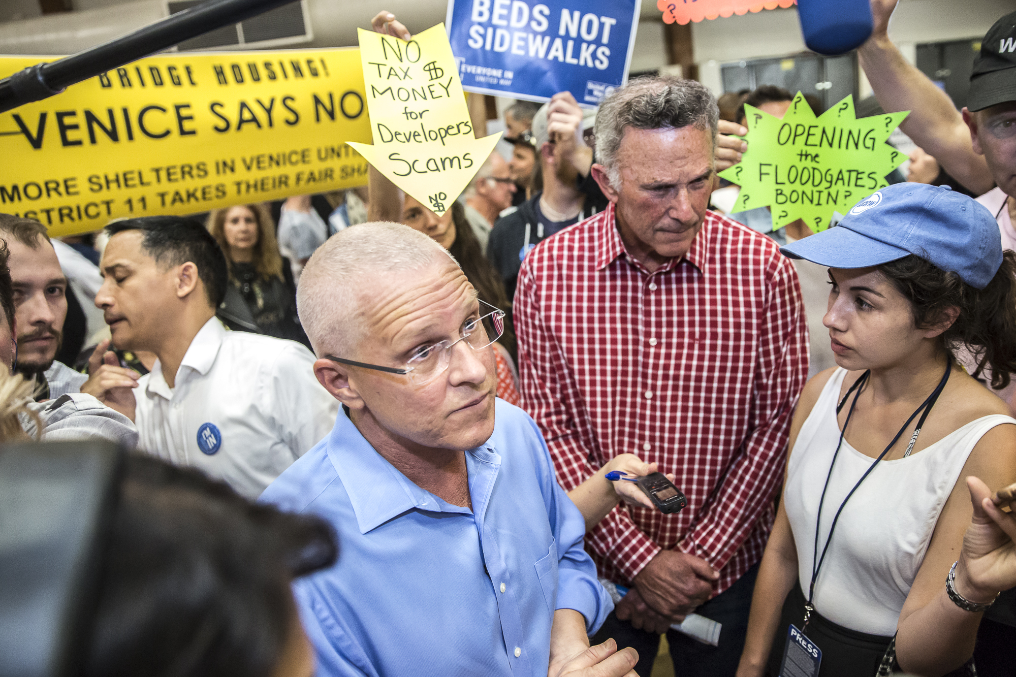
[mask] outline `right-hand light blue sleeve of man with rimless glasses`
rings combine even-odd
[[[592,635],[614,610],[614,602],[596,577],[596,565],[585,551],[585,518],[558,484],[547,442],[535,422],[526,417],[532,434],[539,440],[537,467],[547,514],[558,544],[557,609],[574,609],[585,617],[585,629]]]

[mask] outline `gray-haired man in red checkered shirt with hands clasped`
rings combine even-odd
[[[604,636],[647,677],[674,630],[681,677],[734,675],[808,374],[798,275],[766,236],[708,211],[718,111],[692,80],[637,79],[600,106],[592,173],[611,204],[541,243],[518,276],[522,405],[568,490],[620,453],[674,473],[688,507],[616,508],[586,537],[630,587]]]

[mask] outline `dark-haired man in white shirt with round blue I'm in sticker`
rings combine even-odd
[[[227,262],[200,224],[146,217],[106,231],[96,305],[114,346],[158,360],[138,376],[107,353],[85,389],[134,420],[139,448],[257,497],[335,421],[338,403],[317,382],[314,356],[215,318]]]

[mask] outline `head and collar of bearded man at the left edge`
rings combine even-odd
[[[45,226],[0,213],[0,238],[7,243],[17,326],[18,373],[37,383],[37,398],[80,392],[88,378],[57,362],[67,318],[67,278]]]

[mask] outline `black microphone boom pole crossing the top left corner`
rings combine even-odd
[[[29,66],[0,79],[0,113],[58,95],[75,82],[294,1],[214,0],[83,52]]]

